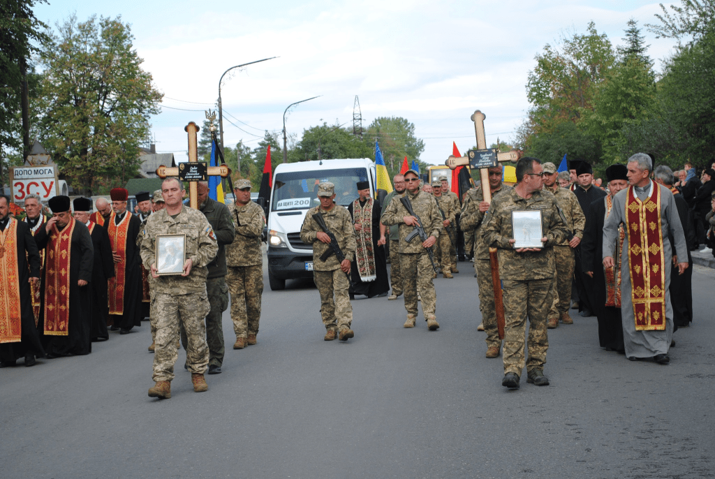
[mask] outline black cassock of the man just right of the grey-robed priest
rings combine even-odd
[[[671,284],[669,292],[671,295],[671,305],[673,305],[673,324],[675,328],[688,327],[693,320],[693,259],[690,250],[696,248],[695,227],[690,217],[688,203],[682,194],[674,194],[675,205],[678,208],[678,216],[683,224],[685,240],[688,243],[688,263],[689,267],[682,275],[678,274],[678,267],[671,265]],[[671,248],[675,251],[675,241],[670,234],[668,239]],[[678,262],[684,262],[678,258]]]

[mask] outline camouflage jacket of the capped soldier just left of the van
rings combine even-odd
[[[236,212],[240,224],[236,222]],[[245,206],[234,203],[229,207],[229,213],[236,227],[236,237],[226,247],[227,265],[231,267],[262,265],[261,234],[265,225],[263,208],[252,201]]]

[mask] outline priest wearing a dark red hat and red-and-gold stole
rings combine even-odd
[[[139,257],[137,237],[142,231],[142,222],[127,211],[129,192],[114,188],[112,215],[107,221],[109,243],[112,245],[114,277],[109,278],[109,321],[112,331],[127,335],[134,326],[142,325],[142,263]]]

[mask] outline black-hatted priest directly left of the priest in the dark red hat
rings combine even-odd
[[[109,302],[107,296],[107,280],[114,277],[114,260],[112,246],[109,245],[107,229],[89,219],[92,212],[92,199],[76,198],[72,202],[74,219],[84,224],[92,237],[94,249],[94,265],[92,267],[91,297],[92,310],[90,317],[92,325],[89,337],[92,341],[108,340],[107,320],[109,320]]]

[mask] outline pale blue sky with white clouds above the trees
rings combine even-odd
[[[52,28],[71,14],[131,24],[142,66],[164,94],[150,120],[157,151],[177,161],[187,159],[184,127],[200,127],[215,108],[224,71],[250,61],[278,57],[224,77],[226,146],[256,147],[265,130],[282,135],[286,107],[317,95],[290,109],[289,136],[323,122],[352,127],[357,96],[363,128],[376,117],[408,119],[425,142],[420,159],[443,164],[453,141],[463,154],[476,144],[476,109],[486,115],[487,144],[513,139],[530,107],[534,56],[586,33],[589,21],[613,44],[638,21],[656,70],[674,46],[647,31],[661,11],[651,1],[49,1],[35,15]]]

